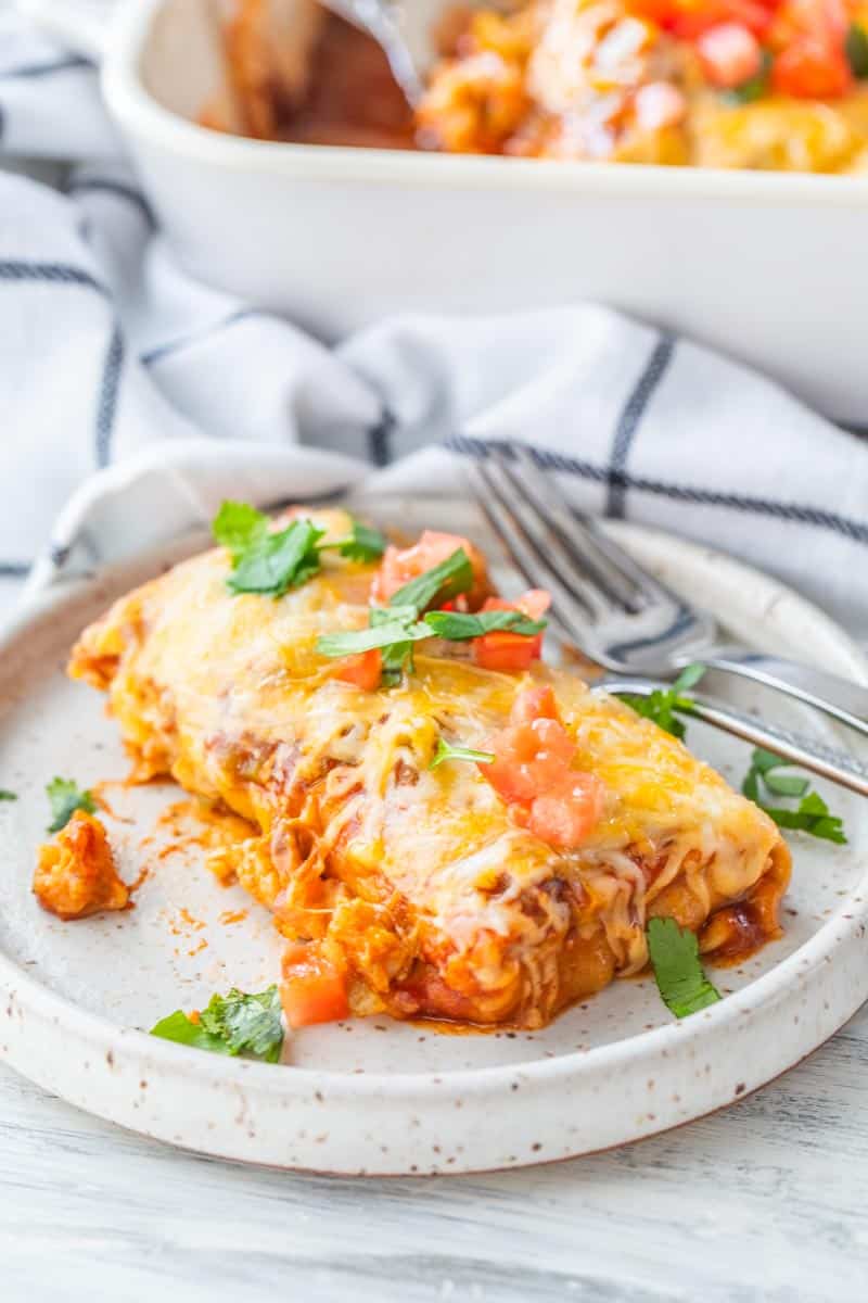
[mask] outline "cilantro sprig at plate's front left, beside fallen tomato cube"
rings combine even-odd
[[[151,1036],[212,1054],[243,1054],[245,1058],[277,1063],[284,1045],[277,986],[255,994],[233,986],[228,995],[212,995],[198,1022],[178,1009],[156,1023]]]

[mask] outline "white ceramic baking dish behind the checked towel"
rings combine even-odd
[[[220,76],[208,3],[124,0],[104,48],[109,108],[195,275],[327,337],[385,313],[596,298],[868,423],[868,179],[223,136],[189,120]]]

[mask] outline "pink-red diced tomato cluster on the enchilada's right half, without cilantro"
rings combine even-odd
[[[600,779],[573,769],[576,749],[552,689],[528,688],[495,741],[495,760],[479,766],[515,822],[561,848],[580,846],[605,807]]]

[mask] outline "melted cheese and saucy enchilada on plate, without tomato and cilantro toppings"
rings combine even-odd
[[[372,567],[331,554],[325,567],[273,601],[230,595],[221,550],[194,558],[86,631],[72,672],[108,688],[139,777],[170,773],[256,825],[239,877],[281,930],[341,947],[367,990],[358,1007],[377,990],[400,1011],[389,992],[423,964],[472,1016],[509,1009],[534,1024],[580,989],[561,972],[570,937],[600,984],[636,972],[645,919],[675,886],[669,912],[696,926],[786,853],[774,823],[679,741],[540,665],[532,679],[554,688],[579,767],[608,794],[586,844],[553,850],[476,765],[428,769],[441,732],[489,745],[531,676],[418,652],[400,687],[336,680],[314,645],[366,625]]]

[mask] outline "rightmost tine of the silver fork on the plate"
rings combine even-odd
[[[528,448],[521,443],[511,448],[522,469],[521,483],[524,493],[558,532],[565,547],[570,550],[573,564],[580,566],[586,573],[591,571],[597,582],[610,589],[613,597],[627,610],[636,610],[643,595],[653,598],[665,592],[664,585],[644,571],[623,547],[571,506],[557,482],[543,474]]]

